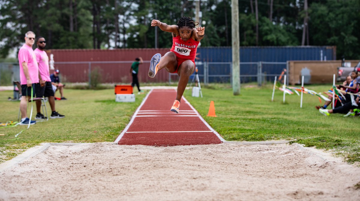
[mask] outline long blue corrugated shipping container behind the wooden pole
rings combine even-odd
[[[231,47],[198,48],[195,61],[208,62],[208,82],[228,82],[231,79]],[[258,62],[262,63],[263,79],[271,80],[286,68],[287,61],[336,60],[336,46],[262,46],[240,47],[240,76],[242,82],[257,80]],[[224,62],[224,63],[211,63]],[[225,63],[226,62],[226,63]],[[252,63],[244,63],[252,62]],[[266,63],[281,62],[281,63]],[[204,67],[197,65],[203,77]]]

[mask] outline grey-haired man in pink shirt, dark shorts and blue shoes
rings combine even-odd
[[[31,96],[35,96],[36,83],[39,83],[39,67],[37,66],[36,56],[32,50],[35,43],[35,33],[28,31],[25,34],[25,44],[20,48],[18,59],[20,66],[20,83],[22,97],[20,100],[21,121],[20,125],[36,124],[27,117],[27,102]],[[31,93],[32,91],[32,93]]]

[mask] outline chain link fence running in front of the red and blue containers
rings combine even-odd
[[[101,83],[130,83],[130,66],[133,61],[113,62],[55,62],[55,68],[60,70],[62,82],[92,82]],[[177,82],[177,73],[159,71],[156,79],[147,76],[150,61],[144,61],[139,66],[140,82]],[[198,68],[200,82],[204,84],[221,82],[232,83],[231,62],[195,62]],[[286,69],[287,62],[240,62],[240,81],[242,83],[257,82],[261,86],[264,82],[273,81],[274,76],[279,76]],[[51,73],[51,72],[50,72]],[[94,80],[94,73],[100,73],[101,80]],[[195,73],[190,76],[193,80]],[[12,85],[14,80],[19,80],[19,64],[0,63],[0,85]]]

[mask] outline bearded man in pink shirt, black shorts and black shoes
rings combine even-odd
[[[39,73],[41,76],[40,83],[36,84],[36,97],[42,98],[49,97],[49,104],[51,107],[51,119],[55,118],[64,118],[64,115],[60,115],[57,111],[55,111],[55,98],[54,91],[51,85],[50,73],[49,73],[49,57],[48,54],[44,51],[46,46],[45,38],[39,36],[36,38],[37,48],[34,50],[36,55],[36,62],[39,65]],[[44,86],[41,86],[41,83],[45,82]],[[46,117],[40,112],[41,100],[36,101],[36,110],[37,114],[35,119],[46,119]]]

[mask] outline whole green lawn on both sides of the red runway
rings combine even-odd
[[[318,92],[330,88],[328,85],[305,87]],[[3,97],[0,122],[17,119],[19,102],[6,100],[12,93],[0,91]],[[234,96],[230,85],[212,84],[203,86],[202,93],[203,98],[191,97],[191,90],[186,90],[184,96],[225,140],[292,140],[291,143],[333,149],[348,162],[360,161],[360,118],[345,118],[342,114],[323,116],[314,107],[320,104],[318,97],[304,94],[300,108],[300,97],[287,95],[284,104],[279,90],[275,90],[274,102],[271,102],[271,85],[260,88],[242,85],[240,95]],[[113,89],[66,89],[65,97],[68,100],[55,102],[57,111],[66,115],[64,119],[39,122],[30,129],[26,126],[0,128],[0,134],[5,134],[0,137],[0,161],[42,142],[113,142],[145,94],[136,94],[135,103],[115,102]],[[206,116],[211,100],[215,102],[217,117]],[[21,130],[23,133],[15,138]]]

